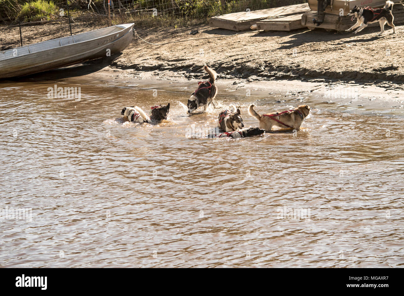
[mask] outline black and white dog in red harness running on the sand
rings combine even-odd
[[[356,5],[349,11],[348,15],[352,16],[352,21],[356,17],[356,24],[347,29],[346,31],[352,31],[355,28],[358,28],[353,33],[358,33],[367,27],[368,24],[379,22],[381,32],[379,35],[384,33],[384,25],[387,24],[393,28],[393,34],[396,33],[396,28],[393,25],[393,14],[391,10],[393,9],[393,2],[387,1],[383,8],[361,8]]]

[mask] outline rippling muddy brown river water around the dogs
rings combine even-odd
[[[403,109],[314,94],[218,106],[259,113],[309,104],[301,131],[189,139],[219,109],[188,116],[191,89],[2,82],[1,267],[401,267]],[[124,123],[123,106],[171,103],[158,125]],[[397,104],[396,104],[397,105]],[[193,128],[193,129],[192,129]],[[5,218],[5,219],[4,219]]]

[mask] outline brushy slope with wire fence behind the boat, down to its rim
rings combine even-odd
[[[210,17],[305,0],[0,0],[0,50],[119,23],[135,29],[203,24]]]

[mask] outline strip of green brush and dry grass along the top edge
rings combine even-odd
[[[137,26],[189,25],[215,15],[307,2],[306,0],[112,0],[113,23],[134,22]],[[120,2],[120,3],[119,3]],[[108,0],[69,0],[72,16],[104,18]],[[120,5],[121,4],[121,5]],[[0,19],[38,21],[55,19],[67,0],[0,0]],[[153,11],[153,9],[156,9]],[[156,15],[157,13],[157,15]]]

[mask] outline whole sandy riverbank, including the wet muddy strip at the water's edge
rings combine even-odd
[[[77,25],[75,33],[99,25]],[[26,38],[34,43],[60,37],[54,36],[59,27],[59,24],[36,26],[38,34],[28,34]],[[199,33],[189,35],[193,29]],[[202,69],[206,63],[219,74],[217,85],[223,90],[219,96],[226,96],[226,92],[245,95],[250,90],[260,96],[315,94],[321,97],[319,100],[334,102],[357,97],[379,98],[395,101],[393,106],[386,106],[390,108],[401,106],[404,96],[404,61],[400,58],[404,26],[396,26],[397,34],[391,32],[387,29],[378,37],[377,27],[366,28],[358,35],[322,29],[236,34],[206,25],[154,28],[139,32],[139,36],[154,44],[175,43],[151,45],[135,34],[128,48],[106,60],[33,77],[156,88],[181,92],[187,97],[196,88],[197,81],[207,79]],[[195,38],[210,39],[191,40]]]

